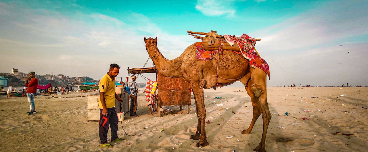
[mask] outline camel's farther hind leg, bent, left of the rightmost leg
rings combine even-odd
[[[247,91],[248,95],[251,97],[252,101],[252,107],[253,107],[253,118],[251,121],[250,126],[247,130],[241,131],[242,134],[250,134],[255,122],[257,121],[259,115],[261,115],[261,105],[258,102],[258,98],[254,95],[253,89],[252,89],[252,79],[250,79],[250,73],[244,76],[240,81],[244,84],[244,88]],[[248,81],[249,79],[249,81]]]

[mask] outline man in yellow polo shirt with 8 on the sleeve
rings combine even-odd
[[[98,106],[100,108],[100,147],[113,146],[107,142],[107,131],[109,131],[109,125],[111,128],[111,142],[123,141],[123,139],[117,136],[118,118],[115,111],[115,98],[120,103],[123,102],[123,100],[115,93],[115,77],[119,74],[119,69],[120,67],[117,64],[111,64],[109,73],[101,78],[99,84],[100,100],[98,100]]]

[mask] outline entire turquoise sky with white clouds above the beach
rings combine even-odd
[[[125,78],[149,58],[145,36],[175,59],[198,42],[187,31],[211,30],[260,38],[267,86],[368,86],[364,0],[0,0],[0,72],[100,79],[117,63]]]

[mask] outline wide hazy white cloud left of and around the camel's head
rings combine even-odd
[[[187,36],[163,32],[149,18],[137,13],[131,14],[136,23],[126,24],[96,13],[68,17],[54,11],[21,10],[17,6],[4,10],[17,13],[0,15],[0,21],[6,21],[0,30],[8,33],[0,36],[0,53],[6,56],[0,72],[9,72],[7,67],[18,67],[24,72],[32,69],[38,74],[53,72],[99,79],[111,63],[117,63],[122,67],[120,76],[126,77],[123,69],[142,67],[149,57],[145,35],[137,31],[150,33],[147,37],[157,36],[159,49],[168,59],[179,56],[192,41]],[[149,66],[151,60],[146,67]]]

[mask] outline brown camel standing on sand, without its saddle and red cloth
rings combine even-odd
[[[266,151],[266,133],[271,114],[267,103],[266,73],[263,70],[258,67],[252,68],[249,61],[244,59],[243,56],[226,50],[222,54],[214,54],[214,59],[212,60],[197,60],[195,44],[188,46],[176,59],[168,60],[160,53],[157,47],[157,37],[155,39],[146,39],[145,37],[144,41],[149,57],[156,65],[160,74],[165,77],[184,78],[190,83],[195,99],[195,112],[198,118],[197,131],[190,138],[194,140],[199,139],[199,142],[196,144],[197,147],[208,145],[203,89],[213,88],[216,84],[229,84],[240,81],[244,84],[245,90],[251,97],[253,106],[251,124],[247,130],[243,130],[241,133],[250,134],[256,120],[262,113],[262,138],[254,151]]]

